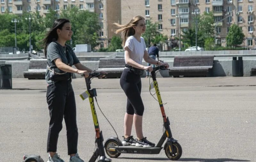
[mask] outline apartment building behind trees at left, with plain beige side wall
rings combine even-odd
[[[99,14],[100,47],[107,47],[110,39],[115,35],[113,23],[121,22],[119,0],[0,0],[1,13],[9,12],[17,15],[39,11],[44,16],[50,8],[60,15],[60,9],[67,9],[68,5],[76,5],[80,10],[89,10]]]

